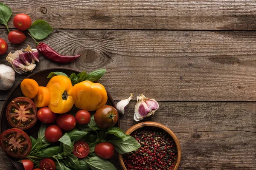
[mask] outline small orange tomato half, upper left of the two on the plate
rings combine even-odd
[[[23,79],[20,88],[25,97],[32,99],[38,93],[39,85],[34,79]]]

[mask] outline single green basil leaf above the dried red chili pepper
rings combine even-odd
[[[36,20],[28,30],[35,39],[43,40],[52,32],[52,27],[44,20]]]

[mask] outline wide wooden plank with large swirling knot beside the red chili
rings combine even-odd
[[[6,31],[0,30],[6,39]],[[130,92],[158,101],[256,101],[256,32],[55,30],[44,40],[70,63],[41,56],[35,71],[65,67],[106,68],[100,80],[114,100]],[[35,47],[31,38],[9,51]],[[1,64],[8,64],[5,56]],[[9,65],[9,64],[8,64]],[[17,82],[29,75],[16,76]],[[6,99],[9,91],[0,91]]]

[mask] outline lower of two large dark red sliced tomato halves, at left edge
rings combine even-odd
[[[32,148],[29,136],[17,128],[8,129],[1,134],[0,146],[9,156],[15,158],[28,156]]]

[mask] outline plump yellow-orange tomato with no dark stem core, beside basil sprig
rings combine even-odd
[[[72,88],[72,97],[77,108],[95,111],[106,104],[108,95],[100,83],[79,82]]]

